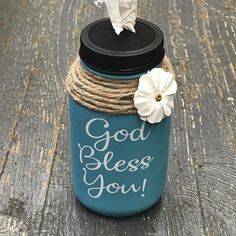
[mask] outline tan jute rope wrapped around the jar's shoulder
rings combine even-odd
[[[162,68],[172,72],[167,57]],[[130,80],[107,79],[86,70],[77,57],[70,67],[66,78],[66,89],[69,95],[81,105],[94,111],[111,114],[134,114],[133,96],[138,88],[138,78]]]

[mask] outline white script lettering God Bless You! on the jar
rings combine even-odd
[[[102,118],[94,118],[87,122],[85,126],[86,135],[94,140],[93,145],[81,145],[77,143],[79,148],[79,158],[83,165],[83,182],[88,186],[88,194],[92,198],[99,198],[106,191],[109,194],[121,193],[128,194],[130,192],[141,192],[141,197],[144,197],[144,191],[148,182],[144,178],[140,184],[135,183],[107,183],[104,171],[130,174],[137,171],[146,170],[150,167],[154,156],[145,155],[139,159],[119,159],[114,161],[115,152],[109,149],[110,142],[130,141],[145,141],[150,135],[150,131],[146,131],[145,122],[141,123],[140,128],[135,128],[131,131],[119,129],[113,134],[110,133],[110,124]],[[98,133],[98,131],[101,133]],[[96,158],[96,153],[103,153],[103,159]],[[101,171],[102,169],[102,171]],[[96,174],[97,173],[97,174]]]

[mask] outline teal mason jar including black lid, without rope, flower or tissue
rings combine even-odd
[[[162,31],[141,19],[135,29],[117,36],[109,19],[88,25],[81,33],[81,66],[111,81],[139,79],[160,67],[165,54]],[[94,111],[71,96],[69,114],[72,183],[79,201],[115,217],[154,205],[166,182],[171,118],[150,124],[138,114]]]

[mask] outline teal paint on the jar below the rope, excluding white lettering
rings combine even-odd
[[[145,133],[150,131],[150,135],[144,141],[132,142],[127,139],[123,142],[116,142],[111,140],[105,152],[95,151],[93,155],[93,157],[102,161],[106,152],[112,151],[114,157],[108,163],[109,166],[112,166],[119,160],[126,160],[128,162],[132,159],[140,160],[147,155],[153,156],[154,159],[147,169],[139,169],[134,172],[126,170],[119,173],[114,170],[107,171],[102,166],[99,170],[89,171],[88,175],[89,181],[93,181],[99,174],[102,174],[105,179],[105,185],[118,183],[119,185],[125,184],[126,186],[131,184],[141,186],[143,180],[146,178],[145,191],[142,192],[142,189],[140,189],[136,193],[130,191],[127,194],[122,194],[121,192],[111,194],[104,191],[99,198],[92,198],[88,194],[89,186],[83,182],[83,168],[86,163],[94,163],[94,161],[89,158],[83,158],[83,163],[81,163],[80,149],[78,147],[78,143],[81,146],[89,145],[93,147],[94,145],[95,140],[85,132],[86,123],[93,118],[105,119],[110,125],[108,128],[109,132],[114,134],[117,130],[121,129],[126,129],[130,132],[136,128],[140,128],[142,121],[136,114],[110,115],[103,112],[95,112],[80,105],[72,98],[69,98],[69,110],[72,182],[75,195],[81,203],[95,212],[116,217],[134,215],[151,207],[161,197],[166,182],[171,118],[167,117],[157,124],[146,123]],[[97,127],[93,131],[98,135],[104,133],[104,130],[102,123],[98,122]],[[143,197],[142,194],[144,194]]]

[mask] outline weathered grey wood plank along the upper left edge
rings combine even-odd
[[[37,48],[25,50],[23,44],[33,46],[28,38],[25,15],[28,8],[19,2],[0,3],[0,173],[4,168],[15,138],[15,128],[31,77],[31,65]],[[14,22],[14,24],[13,24]],[[22,42],[20,45],[19,42]],[[1,175],[1,174],[0,174]]]

